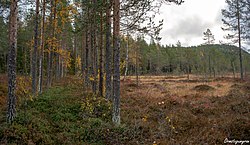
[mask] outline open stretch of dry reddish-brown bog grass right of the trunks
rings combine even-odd
[[[196,87],[208,86],[208,91]],[[225,138],[250,138],[250,83],[232,77],[142,76],[122,83],[123,122],[144,126],[150,144],[223,144]],[[136,143],[131,141],[131,143]]]

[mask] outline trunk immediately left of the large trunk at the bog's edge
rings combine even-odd
[[[105,72],[106,72],[106,94],[105,97],[108,100],[112,99],[112,81],[111,81],[111,2],[106,0],[106,53],[105,53]]]

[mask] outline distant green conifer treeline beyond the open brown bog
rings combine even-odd
[[[204,75],[221,77],[240,73],[239,48],[234,45],[204,44],[182,47],[181,44],[162,46],[141,38],[123,41],[122,62],[126,62],[126,43],[129,44],[128,74],[136,75]],[[243,51],[244,73],[250,71],[249,53]],[[126,65],[122,71],[125,74]]]

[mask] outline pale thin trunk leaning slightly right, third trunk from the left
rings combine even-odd
[[[42,10],[42,28],[41,28],[41,54],[39,60],[39,80],[38,80],[38,92],[42,93],[43,85],[43,53],[44,53],[44,25],[45,25],[45,0],[43,0],[43,10]]]

